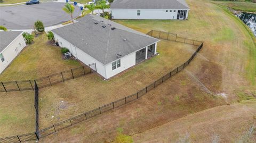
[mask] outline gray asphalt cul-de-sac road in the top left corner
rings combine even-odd
[[[0,26],[7,29],[32,29],[35,21],[40,20],[45,27],[69,21],[70,15],[62,10],[65,3],[42,2],[33,5],[0,7]],[[75,6],[73,17],[81,13]]]

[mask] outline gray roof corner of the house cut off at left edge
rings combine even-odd
[[[0,31],[0,53],[17,38],[22,31]]]

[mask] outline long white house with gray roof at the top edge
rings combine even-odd
[[[188,19],[185,0],[114,0],[112,19]]]

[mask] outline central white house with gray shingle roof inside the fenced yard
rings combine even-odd
[[[52,32],[59,45],[67,47],[78,60],[96,63],[97,72],[105,79],[157,54],[159,41],[91,14]]]

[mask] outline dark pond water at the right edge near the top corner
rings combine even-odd
[[[243,12],[237,14],[237,16],[252,30],[254,36],[256,36],[256,14]]]

